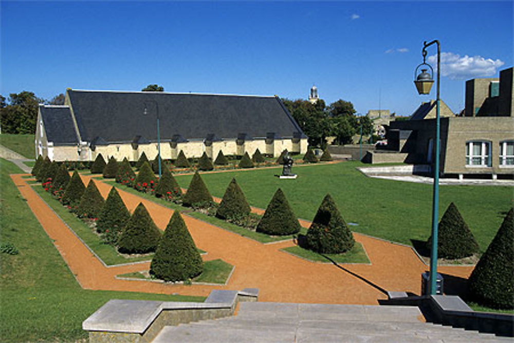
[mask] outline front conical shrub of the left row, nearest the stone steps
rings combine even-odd
[[[164,281],[187,281],[203,272],[203,261],[179,211],[175,211],[164,230],[150,274]]]

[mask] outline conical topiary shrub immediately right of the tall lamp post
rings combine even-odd
[[[432,237],[427,241],[427,248],[432,246]],[[457,206],[451,203],[446,209],[437,229],[437,256],[445,259],[462,259],[479,251],[473,233],[464,222]]]

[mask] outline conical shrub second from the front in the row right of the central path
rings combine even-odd
[[[278,236],[300,231],[300,223],[280,188],[271,198],[256,231]]]

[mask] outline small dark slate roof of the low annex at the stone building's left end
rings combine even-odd
[[[68,106],[40,105],[46,138],[54,145],[75,145],[78,138]]]

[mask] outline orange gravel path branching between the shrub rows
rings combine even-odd
[[[93,176],[82,176],[87,185]],[[387,296],[381,290],[419,294],[421,273],[428,266],[410,247],[354,233],[371,264],[322,264],[294,257],[281,248],[292,240],[262,244],[183,214],[198,248],[208,252],[204,260],[221,258],[235,266],[227,285],[181,285],[151,281],[117,280],[118,274],[148,270],[149,263],[105,267],[67,228],[58,216],[22,178],[11,175],[27,204],[63,256],[83,288],[163,294],[207,296],[213,289],[259,288],[260,301],[377,304]],[[104,197],[111,185],[95,180]],[[173,210],[118,189],[127,208],[142,202],[156,225],[164,229]],[[262,210],[261,210],[262,211]],[[301,221],[303,226],[310,223]],[[467,278],[470,266],[440,266],[439,272]]]

